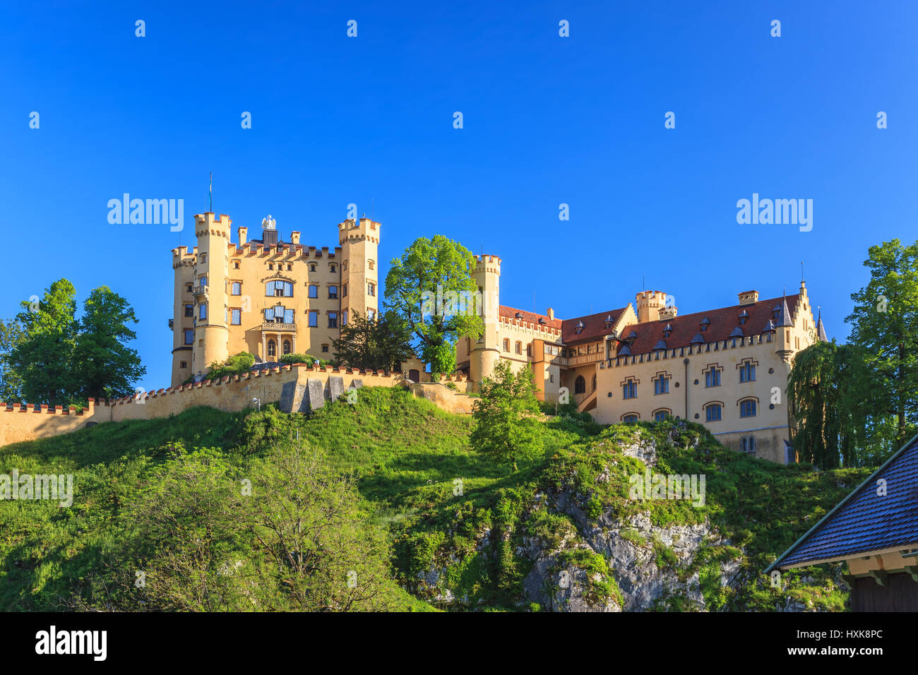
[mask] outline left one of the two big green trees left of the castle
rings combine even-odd
[[[39,302],[21,303],[23,310],[16,321],[22,326],[22,336],[9,353],[8,364],[20,379],[20,393],[27,403],[77,402],[80,388],[73,371],[78,329],[75,298],[73,284],[59,279]]]

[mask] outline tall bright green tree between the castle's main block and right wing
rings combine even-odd
[[[474,270],[475,256],[441,234],[416,239],[389,267],[386,304],[433,374],[453,372],[460,336],[484,331]]]

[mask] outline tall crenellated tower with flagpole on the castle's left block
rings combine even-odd
[[[209,211],[195,215],[197,264],[192,295],[195,298],[195,343],[192,373],[229,356],[227,301],[229,283],[229,226],[226,214],[214,218]]]

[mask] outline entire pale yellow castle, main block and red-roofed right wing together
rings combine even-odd
[[[372,219],[339,223],[333,253],[300,244],[297,231],[283,242],[270,217],[261,240],[247,240],[241,227],[236,244],[226,215],[195,222],[197,246],[173,251],[173,386],[243,351],[259,362],[293,353],[330,358],[349,312],[378,311],[380,224]],[[826,340],[804,282],[795,295],[759,299],[749,290],[731,307],[683,316],[666,293],[649,290],[623,308],[560,319],[551,308],[500,305],[500,264],[496,255],[476,256],[485,330],[456,345],[466,388],[508,361],[515,371],[532,367],[539,399],[569,399],[597,422],[672,416],[704,424],[735,450],[794,460],[787,377],[794,354]],[[422,373],[416,366],[407,376]]]

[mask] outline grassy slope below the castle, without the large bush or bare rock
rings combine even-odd
[[[356,405],[331,403],[311,417],[287,416],[274,406],[238,413],[196,408],[168,419],[103,423],[0,447],[0,474],[17,468],[74,475],[71,507],[0,502],[0,610],[60,609],[62,597],[100,564],[99,551],[124,505],[174,447],[217,448],[229,464],[241,465],[276,434],[297,431],[303,444],[321,449],[333,467],[353,475],[375,522],[388,530],[393,574],[409,591],[399,591],[404,609],[442,605],[436,598],[446,591],[462,601],[451,608],[538,609],[522,592],[532,568],[521,553],[524,539],[535,537],[549,550],[582,541],[573,520],[545,507],[543,496],[560,490],[575,497],[590,523],[639,512],[659,527],[713,523],[728,541],[702,546],[682,566],[650,534],[621,531],[635,546],[652,546],[658,567],[680,579],[698,571],[711,609],[769,611],[787,595],[813,608],[845,609],[847,594],[833,582],[837,566],[789,572],[783,590],[771,588],[760,570],[869,469],[781,467],[727,450],[697,424],[669,420],[603,428],[588,415],[558,412],[541,422],[543,452],[518,458],[516,472],[468,446],[470,418],[441,411],[402,388],[364,388]],[[629,499],[628,478],[643,473],[644,464],[621,448],[635,434],[655,442],[655,473],[706,476],[703,507]],[[581,551],[562,555],[590,571],[588,597],[621,602],[615,570],[602,556]],[[719,581],[719,564],[731,559],[739,559],[747,575],[736,592]],[[437,572],[432,584],[425,579],[431,570]],[[812,582],[803,583],[808,575]],[[685,599],[660,604],[680,609]]]

